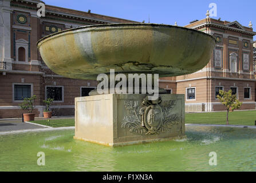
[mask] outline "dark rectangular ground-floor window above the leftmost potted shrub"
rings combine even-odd
[[[14,100],[22,101],[31,97],[31,85],[14,85]]]

